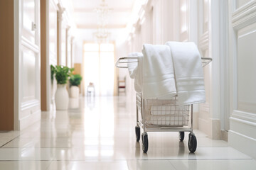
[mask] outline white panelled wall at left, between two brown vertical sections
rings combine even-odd
[[[14,8],[14,130],[22,130],[41,119],[40,1],[15,1]]]

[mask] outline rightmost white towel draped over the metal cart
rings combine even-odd
[[[206,102],[203,68],[194,42],[166,42],[174,60],[176,89],[180,105]]]

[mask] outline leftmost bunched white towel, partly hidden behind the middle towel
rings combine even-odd
[[[142,92],[142,63],[143,63],[143,54],[142,52],[132,52],[128,55],[129,57],[138,57],[138,62],[134,62],[131,60],[130,63],[127,64],[129,75],[132,79],[134,79],[134,89],[138,93]],[[139,64],[138,64],[139,63]]]

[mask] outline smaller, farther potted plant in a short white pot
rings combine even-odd
[[[81,83],[82,77],[80,74],[72,74],[70,76],[70,97],[78,98],[79,97],[79,85]]]

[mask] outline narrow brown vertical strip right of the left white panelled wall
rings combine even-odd
[[[47,111],[46,91],[46,0],[41,5],[41,111]]]

